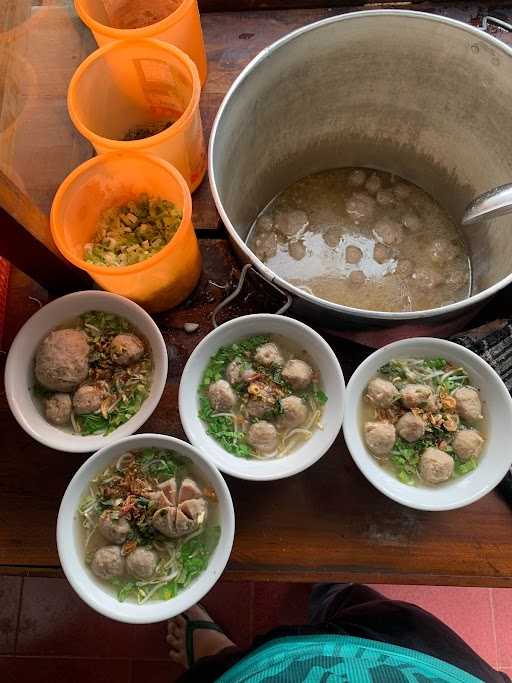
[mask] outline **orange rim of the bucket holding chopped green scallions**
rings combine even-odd
[[[180,189],[183,192],[183,216],[181,218],[181,223],[179,224],[178,229],[176,230],[171,240],[165,245],[165,247],[160,249],[160,251],[157,251],[156,254],[153,254],[153,256],[150,256],[144,261],[139,261],[139,263],[133,263],[130,266],[114,266],[111,268],[109,268],[108,266],[98,266],[96,264],[89,263],[88,261],[79,258],[78,256],[76,256],[76,254],[74,254],[68,249],[68,247],[64,243],[64,240],[61,238],[59,231],[57,230],[55,207],[56,204],[60,202],[60,200],[62,200],[65,193],[72,186],[72,184],[77,180],[77,178],[79,178],[82,175],[84,171],[88,170],[93,166],[97,166],[102,163],[107,163],[110,159],[113,159],[114,157],[126,156],[132,157],[133,160],[143,158],[144,161],[149,161],[157,166],[163,167],[170,175],[173,176],[173,178],[178,182],[178,185],[180,186]],[[160,159],[159,157],[153,156],[152,154],[143,154],[142,152],[134,151],[107,152],[105,154],[100,154],[98,156],[92,157],[92,159],[84,161],[82,164],[73,169],[73,171],[71,171],[71,173],[68,176],[66,176],[66,178],[64,178],[62,183],[59,185],[57,192],[55,193],[55,197],[53,198],[52,207],[50,211],[50,230],[52,233],[53,240],[61,254],[68,261],[70,261],[70,263],[77,266],[81,270],[85,270],[89,273],[94,273],[95,275],[132,275],[138,273],[141,270],[146,270],[148,267],[153,266],[159,261],[161,261],[164,258],[164,256],[166,256],[166,254],[171,251],[173,243],[175,243],[180,234],[182,234],[185,231],[188,224],[192,226],[192,196],[190,194],[190,189],[185,178],[181,175],[177,168],[175,168],[168,161],[165,161],[165,159]]]

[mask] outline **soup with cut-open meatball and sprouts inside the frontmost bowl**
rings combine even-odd
[[[92,574],[120,601],[170,600],[208,566],[220,537],[215,492],[173,451],[126,452],[78,509]]]

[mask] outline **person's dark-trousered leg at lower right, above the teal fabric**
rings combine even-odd
[[[506,681],[454,631],[421,607],[358,584],[320,586],[312,595],[316,627],[378,640],[437,657],[485,683]]]

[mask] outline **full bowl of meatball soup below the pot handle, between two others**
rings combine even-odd
[[[258,314],[211,332],[180,383],[189,440],[241,479],[272,480],[310,467],[343,420],[345,382],[329,344],[292,318]]]

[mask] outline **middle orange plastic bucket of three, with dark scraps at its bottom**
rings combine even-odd
[[[184,52],[135,38],[110,43],[80,64],[69,84],[68,109],[98,154],[155,154],[176,166],[194,191],[206,172],[200,95],[197,69]],[[123,140],[131,129],[157,121],[174,123],[157,135]]]

